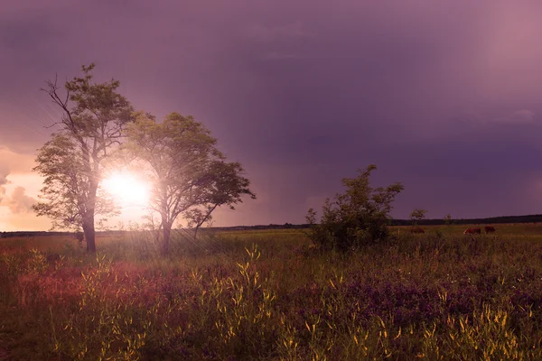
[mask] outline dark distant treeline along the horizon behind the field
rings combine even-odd
[[[537,223],[542,222],[542,215],[528,216],[504,216],[493,218],[471,218],[471,219],[451,219],[453,225],[481,225],[481,224],[503,224],[503,223]],[[410,226],[412,221],[409,219],[392,219],[391,226]],[[422,219],[418,222],[420,226],[438,226],[444,225],[446,221],[443,219]],[[284,225],[257,225],[257,226],[234,226],[234,227],[210,227],[203,229],[213,230],[250,230],[250,229],[301,229],[311,227],[309,224],[293,225],[285,223]],[[126,231],[101,231],[98,235],[120,235]],[[72,236],[73,232],[47,232],[47,231],[19,231],[19,232],[0,232],[0,238],[7,237],[29,237],[29,236]]]

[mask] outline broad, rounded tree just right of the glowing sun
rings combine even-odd
[[[153,184],[151,208],[161,217],[163,252],[169,250],[173,222],[184,215],[195,227],[209,221],[221,205],[233,208],[244,194],[255,198],[238,162],[225,162],[217,140],[192,116],[172,113],[164,122],[139,112],[126,134],[126,155]]]

